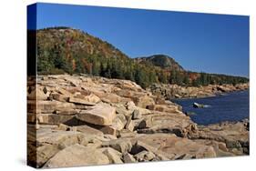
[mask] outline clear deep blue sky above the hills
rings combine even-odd
[[[249,77],[249,16],[86,5],[37,4],[36,9],[36,29],[69,26],[129,57],[163,54],[186,70]]]

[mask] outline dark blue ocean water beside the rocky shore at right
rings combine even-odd
[[[232,92],[226,95],[174,99],[172,102],[182,106],[191,120],[199,125],[216,124],[223,121],[240,121],[249,118],[249,90]],[[205,108],[194,108],[193,103],[206,105]]]

